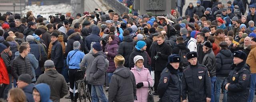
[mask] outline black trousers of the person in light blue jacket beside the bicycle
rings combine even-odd
[[[77,71],[80,69],[68,69],[68,74],[69,74],[69,83],[70,83],[70,87],[69,87],[69,92],[70,92],[70,98],[71,100],[74,100],[74,102],[76,102],[77,98],[78,98],[78,90],[77,90],[77,84],[76,81],[80,79],[80,77],[78,78],[76,76]],[[75,88],[75,97],[73,94],[73,89]]]

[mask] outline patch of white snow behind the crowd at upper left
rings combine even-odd
[[[31,6],[26,6],[26,9],[22,10],[22,12],[24,13],[28,11],[32,11],[34,13],[34,17],[40,14],[44,18],[48,18],[48,16],[50,15],[55,16],[55,14],[58,14],[58,13],[66,15],[67,12],[71,11],[71,5],[57,4],[57,5],[38,6],[34,4]],[[26,16],[26,14],[23,14],[23,15]]]

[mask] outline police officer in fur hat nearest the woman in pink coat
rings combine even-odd
[[[161,73],[158,84],[160,102],[180,102],[181,81],[178,76],[180,60],[179,55],[168,56],[168,63]]]

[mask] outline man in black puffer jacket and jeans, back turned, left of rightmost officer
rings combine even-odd
[[[227,79],[229,72],[232,70],[231,65],[233,63],[233,54],[228,50],[228,43],[220,43],[220,52],[216,55],[216,84],[214,90],[214,100],[218,102],[220,100],[220,89],[224,80]],[[227,90],[223,90],[223,101],[227,101]]]

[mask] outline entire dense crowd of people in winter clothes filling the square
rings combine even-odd
[[[98,9],[49,20],[6,12],[1,101],[60,102],[69,93],[77,102],[76,81],[85,78],[92,102],[149,102],[151,90],[159,102],[219,102],[221,92],[223,102],[252,102],[255,2],[246,12],[242,0],[198,0],[185,16],[180,6],[159,16]]]

